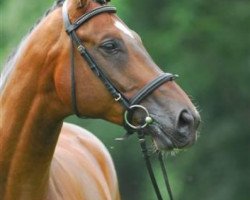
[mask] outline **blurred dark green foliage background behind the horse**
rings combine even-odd
[[[52,0],[0,0],[0,66]],[[202,116],[192,148],[168,156],[177,200],[250,199],[250,1],[113,0],[155,62],[177,73]],[[95,133],[111,152],[124,200],[154,200],[136,137],[101,120],[68,121]],[[163,184],[159,166],[157,176]],[[164,190],[164,188],[162,188]],[[165,199],[168,199],[165,197]]]

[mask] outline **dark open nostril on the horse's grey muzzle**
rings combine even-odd
[[[181,111],[178,119],[177,128],[180,132],[189,132],[194,126],[194,117],[187,110]]]

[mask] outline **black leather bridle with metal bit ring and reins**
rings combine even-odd
[[[105,1],[103,2],[105,3]],[[142,89],[140,89],[134,97],[131,99],[127,99],[115,86],[114,84],[109,80],[109,78],[106,76],[105,72],[99,67],[99,65],[95,62],[93,57],[90,55],[86,47],[84,46],[83,41],[79,39],[79,37],[76,34],[76,30],[84,24],[86,21],[90,20],[92,17],[99,15],[101,13],[116,13],[116,8],[108,5],[101,5],[98,8],[95,8],[88,13],[82,15],[80,18],[78,18],[74,23],[70,22],[66,1],[63,4],[63,20],[64,25],[67,34],[69,35],[71,39],[71,51],[70,51],[70,59],[71,59],[71,98],[72,98],[72,107],[74,113],[82,118],[83,116],[80,114],[78,107],[77,107],[77,98],[76,98],[76,81],[75,81],[75,63],[74,63],[74,47],[77,48],[78,52],[81,54],[83,59],[88,63],[90,69],[97,75],[97,77],[103,82],[107,90],[110,92],[110,94],[113,96],[115,101],[120,102],[124,108],[124,127],[127,130],[128,134],[137,133],[138,138],[140,141],[141,149],[143,156],[145,158],[146,166],[153,184],[153,187],[155,189],[156,195],[159,200],[162,200],[162,196],[159,190],[159,187],[157,185],[152,166],[149,160],[149,154],[146,146],[146,139],[145,139],[145,128],[149,126],[151,123],[153,123],[153,119],[150,116],[150,113],[148,112],[147,108],[140,105],[140,102],[145,99],[148,95],[150,95],[154,90],[156,90],[158,87],[160,87],[162,84],[172,81],[177,77],[177,75],[173,75],[170,73],[163,73],[147,85],[145,85]],[[140,110],[141,112],[145,113],[145,119],[142,124],[140,125],[134,125],[132,122],[132,116],[135,110]],[[162,153],[159,152],[159,161],[162,168],[164,180],[166,183],[166,187],[169,193],[169,197],[171,200],[173,200],[172,192],[170,189],[170,185],[168,182],[167,172],[166,172],[166,166],[163,162]]]

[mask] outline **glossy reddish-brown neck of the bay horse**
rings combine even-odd
[[[42,199],[62,125],[53,66],[45,67],[55,39],[48,36],[39,49],[39,30],[33,32],[0,96],[0,196],[6,199]]]

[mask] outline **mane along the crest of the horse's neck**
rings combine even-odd
[[[6,81],[8,80],[8,77],[10,76],[16,60],[20,54],[20,52],[22,52],[22,47],[24,46],[24,44],[26,43],[26,39],[27,37],[30,35],[30,33],[34,30],[34,28],[40,23],[40,21],[45,18],[47,15],[49,15],[52,11],[54,11],[56,8],[61,7],[63,5],[63,2],[65,0],[56,0],[54,2],[54,4],[52,5],[52,7],[50,7],[45,13],[44,15],[31,27],[31,29],[29,30],[29,32],[23,37],[22,41],[20,42],[19,46],[14,49],[14,51],[8,56],[3,70],[1,72],[1,79],[0,79],[0,93],[3,91]]]

